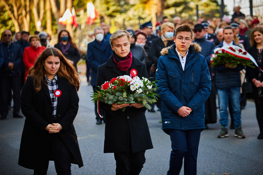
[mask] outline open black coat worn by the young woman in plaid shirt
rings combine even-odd
[[[79,97],[76,88],[58,76],[58,86],[61,96],[58,97],[56,112],[57,123],[63,129],[59,135],[73,155],[72,163],[83,166],[77,135],[73,121],[78,112]],[[52,102],[48,87],[43,82],[37,93],[33,78],[28,76],[21,92],[21,110],[26,120],[20,144],[18,164],[29,169],[35,169],[43,152],[49,153],[49,140],[52,133],[45,130],[52,124]],[[50,160],[52,157],[50,156]]]

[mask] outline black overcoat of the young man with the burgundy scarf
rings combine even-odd
[[[101,87],[101,84],[110,81],[114,77],[130,75],[131,69],[136,69],[137,76],[140,78],[148,77],[145,63],[140,62],[135,57],[132,59],[130,69],[123,73],[114,63],[113,57],[109,57],[106,63],[98,67],[97,86]],[[112,111],[111,105],[102,102],[100,102],[99,107],[105,111],[104,153],[124,151],[136,153],[153,148],[144,115],[146,108],[128,106],[124,112],[122,109]],[[129,149],[130,147],[132,150]]]

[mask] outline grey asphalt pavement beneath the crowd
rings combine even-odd
[[[113,153],[103,153],[105,124],[96,125],[94,105],[90,94],[92,87],[81,75],[83,82],[78,92],[79,111],[74,125],[78,135],[84,166],[78,168],[72,164],[74,175],[113,175],[115,160]],[[218,111],[217,111],[218,113]],[[169,169],[171,142],[161,129],[160,112],[146,112],[154,149],[146,151],[146,162],[141,175],[165,175]],[[219,113],[218,113],[219,119]],[[33,170],[19,166],[18,155],[21,133],[25,118],[13,118],[9,111],[7,119],[0,121],[0,175],[32,175]],[[242,128],[246,139],[234,137],[234,130],[229,129],[229,137],[219,139],[219,122],[208,125],[209,129],[201,132],[197,159],[198,175],[262,175],[263,140],[258,140],[258,123],[253,101],[247,101],[242,110]],[[34,131],[32,131],[34,132]],[[34,139],[34,138],[32,138]],[[48,175],[55,175],[54,162],[50,161]],[[183,175],[183,168],[180,175]]]

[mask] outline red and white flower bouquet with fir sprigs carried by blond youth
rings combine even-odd
[[[102,101],[108,105],[114,103],[139,103],[145,108],[151,109],[149,105],[157,101],[158,94],[155,81],[142,77],[140,79],[135,69],[131,70],[131,74],[112,78],[110,82],[106,81],[99,87],[99,91],[92,92],[92,100],[94,103]],[[125,108],[122,109],[125,111]]]

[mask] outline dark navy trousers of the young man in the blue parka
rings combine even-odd
[[[167,175],[179,175],[184,158],[184,174],[196,175],[201,129],[169,131],[172,142],[170,168]]]

